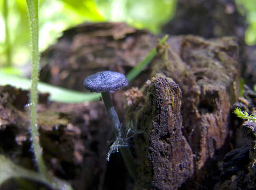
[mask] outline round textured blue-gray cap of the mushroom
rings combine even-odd
[[[97,72],[84,79],[84,88],[98,93],[115,92],[127,85],[125,75],[114,71]]]

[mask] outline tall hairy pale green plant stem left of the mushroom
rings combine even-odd
[[[39,81],[39,24],[38,24],[38,0],[26,0],[30,15],[30,31],[32,46],[32,83],[30,92],[31,110],[30,125],[32,144],[34,148],[35,159],[39,167],[39,172],[50,181],[42,156],[42,147],[39,141],[39,129],[37,127],[37,83]]]

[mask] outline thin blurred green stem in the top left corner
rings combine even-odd
[[[8,0],[4,0],[3,5],[3,17],[4,17],[4,25],[5,25],[5,45],[6,45],[6,62],[7,67],[12,66],[12,48],[10,44],[10,30],[8,23]]]

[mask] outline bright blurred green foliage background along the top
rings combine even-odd
[[[256,2],[236,0],[248,12],[245,41],[256,43]],[[125,21],[137,28],[160,32],[172,18],[176,0],[39,0],[40,51],[53,44],[62,31],[80,23]],[[0,0],[0,66],[15,68],[30,60],[29,16],[25,0]],[[7,27],[5,27],[7,26]],[[6,35],[9,34],[9,35]],[[8,72],[8,68],[5,68]],[[10,72],[20,73],[19,70]]]

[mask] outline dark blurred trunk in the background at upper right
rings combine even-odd
[[[178,0],[174,18],[163,27],[170,35],[193,34],[201,37],[236,36],[240,43],[242,77],[251,87],[256,83],[255,45],[244,42],[246,9],[234,0]]]

